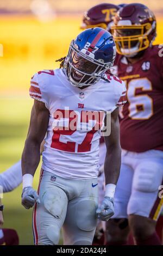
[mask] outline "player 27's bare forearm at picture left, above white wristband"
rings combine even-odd
[[[32,139],[26,140],[22,154],[22,175],[34,176],[40,162],[40,143]]]

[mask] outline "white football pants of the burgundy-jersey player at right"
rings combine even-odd
[[[120,178],[115,192],[115,215],[140,215],[158,220],[163,198],[159,188],[163,179],[163,152],[134,153],[122,150]]]

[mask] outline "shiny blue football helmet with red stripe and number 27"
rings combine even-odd
[[[114,64],[116,46],[103,28],[90,28],[72,40],[64,62],[65,74],[73,86],[95,84]]]

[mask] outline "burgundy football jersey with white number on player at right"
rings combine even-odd
[[[120,112],[121,147],[163,150],[163,57],[158,45],[134,64],[117,54],[115,72],[126,82],[127,103]]]

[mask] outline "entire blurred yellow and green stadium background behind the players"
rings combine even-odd
[[[0,1],[0,172],[21,157],[30,109],[30,77],[42,69],[59,66],[55,59],[66,56],[70,41],[80,32],[85,10],[99,0],[1,0]],[[141,2],[151,8],[158,21],[155,44],[163,42],[163,7],[160,0]],[[35,175],[37,187],[39,168]],[[32,210],[21,206],[21,190],[4,194],[4,227],[14,228],[21,245],[32,245]]]

